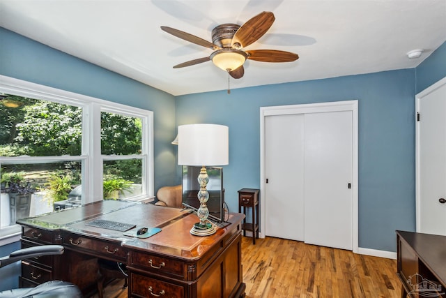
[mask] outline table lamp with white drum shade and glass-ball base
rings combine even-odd
[[[206,205],[209,193],[206,190],[209,177],[206,166],[227,165],[229,163],[229,128],[218,124],[187,124],[178,126],[178,165],[201,166],[198,176],[200,190],[197,210],[199,223],[190,230],[197,236],[214,234],[217,226],[208,221]]]

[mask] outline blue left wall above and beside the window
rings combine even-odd
[[[153,111],[155,191],[174,184],[175,98],[0,27],[0,74]],[[169,141],[169,142],[167,142]]]

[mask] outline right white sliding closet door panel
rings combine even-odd
[[[305,242],[353,249],[352,112],[305,114]]]

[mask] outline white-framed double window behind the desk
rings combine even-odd
[[[0,95],[0,243],[17,218],[153,195],[153,112],[4,76]]]

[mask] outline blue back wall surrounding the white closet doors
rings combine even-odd
[[[260,187],[260,107],[359,100],[360,247],[395,251],[394,230],[415,230],[415,70],[179,96],[177,124],[229,126],[226,201]],[[292,186],[290,186],[292,187]]]

